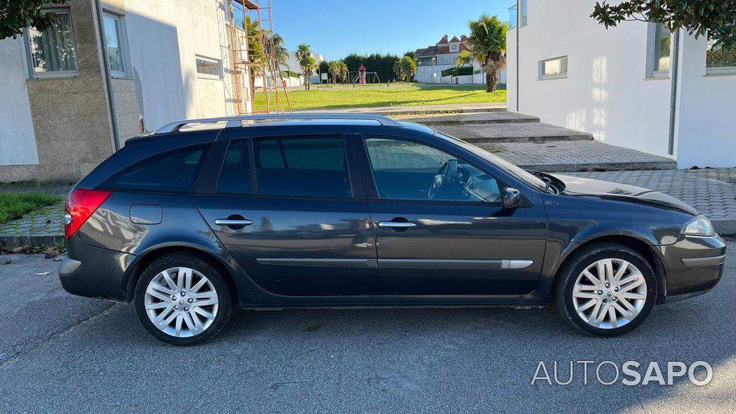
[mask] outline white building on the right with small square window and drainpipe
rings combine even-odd
[[[593,0],[520,0],[507,34],[509,110],[672,157],[736,165],[736,51],[661,24],[590,17]],[[670,110],[671,109],[671,110]]]

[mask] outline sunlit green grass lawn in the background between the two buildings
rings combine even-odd
[[[506,90],[486,93],[483,85],[390,88],[312,88],[289,92],[294,110],[347,107],[389,107],[431,104],[505,102]],[[275,104],[272,103],[272,108]],[[263,93],[255,93],[255,110],[263,110]]]

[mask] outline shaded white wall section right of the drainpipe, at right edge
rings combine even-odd
[[[705,75],[705,39],[681,37],[675,154],[679,168],[736,166],[736,75]]]

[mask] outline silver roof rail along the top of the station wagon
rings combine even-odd
[[[183,119],[180,121],[170,122],[159,129],[155,134],[166,134],[167,132],[177,132],[182,126],[188,124],[216,124],[218,122],[227,122],[225,128],[239,128],[243,126],[242,121],[268,121],[280,119],[355,119],[378,121],[383,126],[402,126],[397,121],[383,116],[372,114],[353,114],[353,113],[279,113],[279,114],[263,114],[263,115],[241,115],[241,116],[223,116],[221,118],[199,118],[199,119]]]

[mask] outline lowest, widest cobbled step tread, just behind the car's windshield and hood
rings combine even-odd
[[[526,125],[526,124],[520,124]],[[601,141],[478,143],[481,148],[523,168],[539,171],[592,171],[676,168],[675,161]]]

